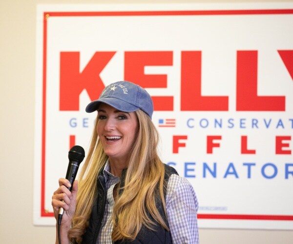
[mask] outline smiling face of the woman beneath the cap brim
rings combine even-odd
[[[101,103],[98,109],[97,133],[109,159],[124,161],[136,139],[138,121],[134,112],[122,112]]]

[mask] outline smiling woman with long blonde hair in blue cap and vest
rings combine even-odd
[[[196,195],[158,157],[153,103],[146,90],[118,81],[85,110],[98,111],[98,117],[79,190],[77,181],[70,192],[69,181],[60,179],[52,197],[56,220],[59,208],[65,210],[62,244],[197,244]]]

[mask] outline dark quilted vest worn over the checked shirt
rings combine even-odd
[[[164,195],[166,199],[166,189],[167,189],[167,182],[169,180],[169,177],[171,174],[177,174],[176,170],[168,166],[167,164],[165,165],[165,183],[166,187],[164,187]],[[124,186],[125,183],[125,176],[126,176],[126,170],[122,172],[121,175],[121,186]],[[83,235],[83,244],[96,244],[99,231],[102,226],[102,220],[104,217],[104,210],[105,210],[105,201],[106,201],[106,187],[105,187],[105,177],[103,175],[103,170],[99,173],[98,179],[97,179],[97,198],[93,204],[91,216],[89,219],[89,225],[85,230],[85,233]],[[119,194],[121,194],[122,191],[120,190]],[[156,201],[157,208],[159,210],[159,213],[165,220],[165,222],[168,225],[164,210],[163,210],[163,204],[162,201],[157,198],[158,200]],[[150,216],[150,215],[149,215]],[[164,229],[162,226],[159,224],[155,226],[155,231],[148,229],[146,226],[142,226],[140,229],[136,239],[134,241],[117,241],[115,244],[171,244],[171,233],[170,231],[167,231]]]

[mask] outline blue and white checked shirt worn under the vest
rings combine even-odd
[[[104,168],[107,198],[101,231],[97,244],[112,244],[113,188],[120,179],[112,175],[107,162]],[[168,224],[174,244],[198,244],[198,202],[192,185],[176,174],[172,174],[167,185],[166,208]]]

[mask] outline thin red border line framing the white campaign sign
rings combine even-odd
[[[53,217],[45,209],[45,139],[46,139],[46,65],[47,65],[47,20],[51,17],[90,16],[199,16],[199,15],[280,15],[293,14],[293,9],[248,9],[248,10],[191,10],[191,11],[103,11],[103,12],[44,12],[43,13],[43,67],[42,67],[42,168],[41,168],[41,217]],[[243,214],[198,214],[198,219],[214,220],[273,220],[293,221],[292,215],[243,215]]]

